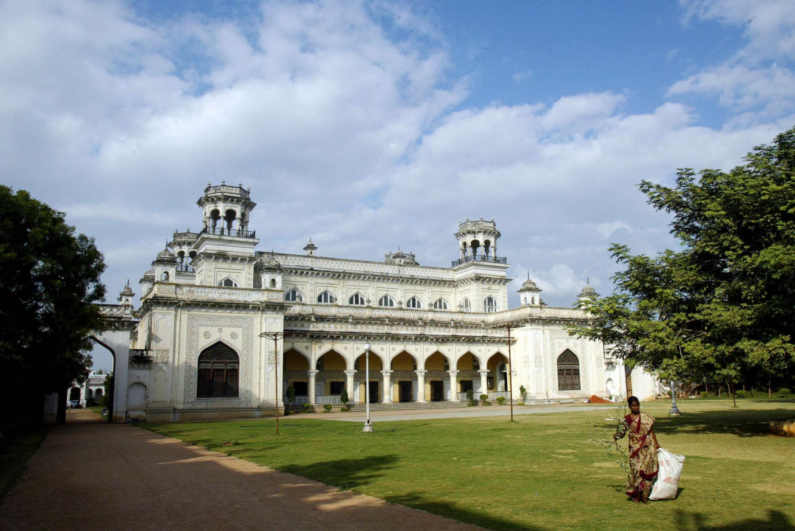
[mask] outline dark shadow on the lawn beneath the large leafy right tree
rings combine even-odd
[[[770,421],[795,417],[793,409],[775,410],[715,410],[688,413],[681,417],[657,417],[654,430],[664,433],[731,433],[738,437],[770,435]]]

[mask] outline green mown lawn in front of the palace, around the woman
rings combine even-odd
[[[657,417],[663,448],[687,456],[676,501],[636,505],[591,422],[603,410],[359,423],[273,421],[144,425],[281,471],[491,529],[795,529],[795,438],[769,434],[795,401],[689,400]],[[223,446],[227,441],[234,444]],[[626,444],[626,440],[623,441]]]

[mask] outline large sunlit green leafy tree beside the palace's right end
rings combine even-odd
[[[682,248],[655,257],[613,244],[615,293],[590,300],[588,325],[630,366],[665,379],[734,384],[795,365],[795,129],[731,171],[678,171],[676,187],[642,181],[673,215]],[[733,394],[733,393],[732,393]]]

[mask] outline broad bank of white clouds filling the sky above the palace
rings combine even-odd
[[[311,236],[321,256],[401,245],[446,266],[456,221],[495,217],[511,274],[530,269],[569,306],[588,275],[609,291],[611,242],[672,244],[641,179],[731,167],[793,122],[709,129],[675,102],[628,114],[611,91],[456,108],[469,81],[449,77],[444,36],[391,4],[268,2],[245,28],[157,25],[121,2],[0,14],[0,171],[97,237],[111,294],[174,229],[198,228],[196,198],[226,179],[251,188],[262,249],[301,252]]]

